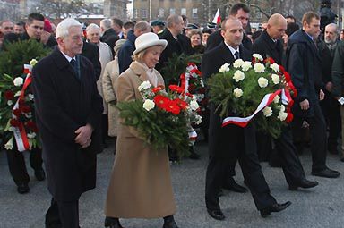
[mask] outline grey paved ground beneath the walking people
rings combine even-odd
[[[113,163],[113,146],[99,155],[98,186],[81,198],[80,216],[82,228],[103,227],[103,207],[107,184]],[[328,165],[340,170],[339,179],[314,178],[320,185],[312,190],[289,191],[283,173],[279,168],[262,164],[262,170],[271,187],[272,195],[279,202],[292,201],[287,210],[263,219],[254,207],[249,193],[239,194],[225,191],[220,199],[225,221],[216,221],[207,215],[204,207],[204,181],[207,162],[207,145],[198,144],[196,150],[202,159],[184,160],[180,165],[172,165],[172,179],[176,195],[176,221],[180,228],[228,228],[228,227],[344,227],[344,164],[337,156],[328,156]],[[27,156],[27,155],[26,155]],[[28,158],[28,157],[27,157]],[[306,153],[301,156],[307,175],[310,173],[311,159]],[[29,165],[28,165],[29,167]],[[0,152],[0,227],[1,228],[43,228],[44,214],[49,205],[50,195],[46,182],[38,182],[30,172],[30,193],[16,192],[8,172],[4,152]],[[236,180],[243,183],[240,168],[236,167]],[[159,228],[162,219],[125,219],[125,228]]]

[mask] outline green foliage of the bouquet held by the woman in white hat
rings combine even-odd
[[[142,100],[120,102],[116,105],[124,124],[137,129],[148,146],[157,151],[169,146],[176,149],[179,157],[188,156],[189,138],[185,115],[172,115],[162,110],[148,112],[142,106]]]

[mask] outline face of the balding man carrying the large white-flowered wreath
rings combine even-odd
[[[221,30],[221,35],[229,46],[237,48],[243,40],[244,29],[242,23],[237,20],[228,20],[226,30]]]

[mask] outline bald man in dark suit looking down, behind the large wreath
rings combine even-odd
[[[283,58],[281,38],[285,30],[287,30],[287,20],[280,13],[271,15],[266,30],[263,30],[262,35],[254,42],[253,53],[262,55],[264,59],[271,57],[281,65]],[[271,140],[271,137],[268,139]],[[257,143],[259,144],[259,141]],[[312,188],[318,185],[318,182],[305,179],[305,171],[297,156],[289,126],[285,127],[280,138],[275,140],[275,148],[272,151],[271,159],[280,160],[289,190],[297,190],[297,187]]]

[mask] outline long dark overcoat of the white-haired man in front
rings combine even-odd
[[[82,55],[78,57],[81,79],[57,48],[32,72],[48,190],[57,201],[76,200],[82,192],[95,188],[96,155],[102,150],[101,97],[92,64]],[[81,148],[74,141],[74,131],[87,123],[94,129],[92,141],[90,147]]]

